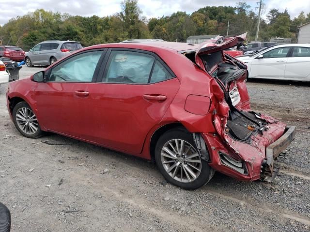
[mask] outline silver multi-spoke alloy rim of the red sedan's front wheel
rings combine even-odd
[[[17,110],[16,122],[20,130],[26,134],[31,135],[38,131],[38,119],[29,108],[22,107]]]

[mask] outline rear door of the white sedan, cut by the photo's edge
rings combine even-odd
[[[285,79],[310,81],[310,47],[294,47],[287,58]]]

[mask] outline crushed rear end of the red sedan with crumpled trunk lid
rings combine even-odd
[[[213,77],[210,88],[217,132],[200,135],[209,148],[201,155],[208,156],[209,165],[223,174],[271,182],[279,171],[275,160],[294,140],[295,128],[250,109],[247,66],[223,52],[241,44],[245,37],[217,37],[196,51],[195,63]],[[194,140],[198,147],[203,146],[195,135]]]

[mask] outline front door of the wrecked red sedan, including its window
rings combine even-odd
[[[39,83],[34,97],[42,124],[49,131],[78,138],[88,133],[85,122],[92,102],[96,73],[103,50],[87,51],[67,58],[48,70],[47,82]]]

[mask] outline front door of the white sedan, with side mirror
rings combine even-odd
[[[263,58],[254,58],[250,63],[251,77],[284,78],[285,65],[291,47],[279,47],[263,53]]]

